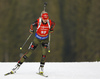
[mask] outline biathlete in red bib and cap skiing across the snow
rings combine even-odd
[[[36,28],[35,38],[31,42],[28,52],[26,52],[21,59],[18,61],[17,65],[12,69],[12,73],[16,73],[22,63],[32,54],[33,50],[37,48],[39,44],[42,46],[42,58],[40,61],[39,73],[43,74],[43,68],[46,60],[46,53],[49,40],[49,32],[52,33],[55,26],[55,22],[49,19],[48,13],[42,11],[41,17],[39,17],[35,22],[30,26],[30,33],[34,32]]]

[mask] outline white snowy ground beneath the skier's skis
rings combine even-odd
[[[47,62],[44,74],[36,74],[39,62],[24,63],[16,74],[4,76],[16,65],[15,62],[0,62],[0,79],[100,79],[100,62]]]

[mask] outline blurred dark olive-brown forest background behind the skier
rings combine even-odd
[[[44,2],[56,26],[47,62],[100,61],[100,0],[0,0],[0,62],[17,62],[34,39],[30,25],[40,16]],[[28,62],[39,62],[41,46]]]

